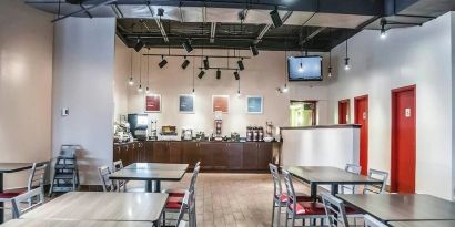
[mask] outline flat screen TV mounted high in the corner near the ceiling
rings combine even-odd
[[[290,56],[287,73],[290,81],[322,81],[322,56]]]

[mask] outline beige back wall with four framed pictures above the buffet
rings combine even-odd
[[[121,44],[121,43],[120,43]],[[118,43],[119,45],[119,43]],[[146,49],[142,50],[146,53]],[[184,54],[182,50],[171,50],[175,54]],[[168,50],[151,49],[150,53],[168,53]],[[201,54],[201,50],[194,50],[192,54]],[[205,50],[204,54],[223,54],[226,50]],[[242,55],[251,55],[249,51],[241,51]],[[231,51],[233,55],[233,51]],[[230,113],[223,115],[223,133],[239,132],[245,134],[247,125],[265,125],[266,121],[272,121],[275,126],[289,125],[290,100],[317,100],[318,102],[318,124],[328,122],[327,113],[327,89],[323,86],[325,82],[313,83],[289,83],[290,92],[279,94],[277,87],[282,87],[285,82],[284,52],[261,51],[259,56],[244,60],[245,70],[241,74],[241,93],[237,97],[237,81],[234,80],[232,71],[222,71],[221,80],[215,79],[215,71],[208,71],[202,80],[198,79],[201,59],[189,58],[191,64],[186,70],[181,69],[183,58],[168,58],[168,65],[164,69],[158,68],[161,56],[150,58],[150,89],[152,93],[162,95],[162,112],[150,113],[149,118],[158,120],[159,126],[176,125],[191,127],[196,131],[211,133],[213,130],[212,95],[230,95]],[[192,91],[193,62],[195,68],[195,114],[179,113],[179,94],[189,94]],[[127,63],[127,62],[124,62]],[[129,62],[128,62],[129,63]],[[210,64],[225,66],[226,60],[211,59]],[[236,61],[231,60],[231,66],[236,66]],[[128,68],[130,65],[128,64]],[[138,93],[139,81],[139,53],[134,54],[133,74],[135,85],[129,87],[128,112],[143,113],[144,93]],[[145,90],[146,84],[146,59],[142,64],[142,84]],[[127,83],[129,74],[124,75]],[[262,95],[264,97],[264,114],[246,114],[245,100],[247,95]],[[118,117],[118,116],[115,116]]]

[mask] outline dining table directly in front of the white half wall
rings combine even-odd
[[[292,176],[310,185],[311,197],[317,198],[317,187],[320,185],[330,185],[331,194],[338,194],[340,185],[377,185],[382,180],[367,176],[353,174],[344,169],[332,166],[284,166]]]

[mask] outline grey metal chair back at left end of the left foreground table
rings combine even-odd
[[[23,203],[23,202],[32,202],[32,203],[29,204],[29,203]],[[28,205],[23,209],[21,208],[22,203]],[[24,194],[21,194],[12,198],[12,217],[14,219],[20,218],[22,214],[36,208],[37,206],[42,205],[43,203],[44,203],[44,193],[41,186],[32,190],[29,190]]]

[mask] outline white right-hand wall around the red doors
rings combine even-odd
[[[416,84],[416,192],[444,198],[452,198],[451,35],[451,13],[423,27],[390,30],[386,40],[378,31],[362,31],[350,40],[352,70],[338,70],[328,89],[333,123],[338,100],[370,95],[368,167],[390,171],[391,90]],[[333,50],[341,69],[344,54],[344,44]]]

